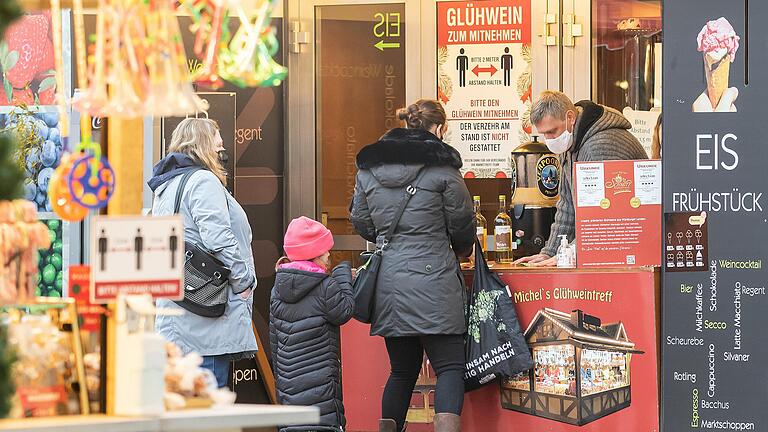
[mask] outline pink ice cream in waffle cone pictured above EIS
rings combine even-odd
[[[739,49],[739,36],[727,19],[721,17],[707,22],[696,38],[704,58],[707,96],[715,109],[728,88],[731,63]]]

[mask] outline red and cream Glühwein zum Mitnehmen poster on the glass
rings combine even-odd
[[[510,154],[531,133],[531,0],[439,2],[437,41],[445,141],[462,174],[512,177]]]

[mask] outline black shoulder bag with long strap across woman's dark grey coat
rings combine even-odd
[[[373,252],[363,252],[361,255],[364,259],[365,255],[368,255],[368,259],[363,266],[357,269],[357,276],[355,276],[355,281],[352,284],[352,293],[355,297],[355,311],[352,316],[362,323],[371,323],[371,315],[373,314],[376,297],[376,281],[379,278],[379,267],[381,267],[381,255],[389,246],[389,240],[397,230],[397,224],[400,223],[400,218],[403,217],[408,201],[416,195],[419,179],[421,179],[423,172],[424,169],[422,168],[414,183],[409,184],[405,188],[405,197],[400,202],[400,207],[392,218],[389,229],[381,241],[379,241],[378,237],[376,238],[376,250]]]

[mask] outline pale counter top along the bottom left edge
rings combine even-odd
[[[315,407],[234,405],[167,412],[159,417],[66,416],[0,420],[13,432],[235,432],[245,428],[308,425],[320,421]]]

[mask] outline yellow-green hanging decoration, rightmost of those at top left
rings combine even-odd
[[[243,3],[230,1],[240,28],[219,55],[222,78],[240,87],[280,85],[288,69],[272,58],[278,50],[276,30],[270,25],[274,0],[255,0],[253,19]]]

